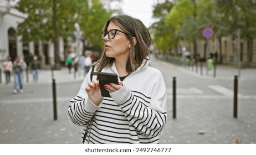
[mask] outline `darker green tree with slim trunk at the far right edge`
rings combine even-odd
[[[223,24],[228,33],[235,38],[241,29],[241,38],[247,41],[247,66],[252,61],[253,38],[256,37],[256,1],[217,0],[218,12],[222,14]]]

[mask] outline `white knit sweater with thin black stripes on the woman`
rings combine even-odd
[[[93,118],[85,143],[159,143],[167,118],[166,85],[161,72],[149,63],[144,61],[122,81],[122,89],[111,92],[111,98],[104,97],[98,106],[85,92],[89,72],[68,107],[71,121],[84,126],[84,132]],[[102,71],[117,74],[115,65]]]

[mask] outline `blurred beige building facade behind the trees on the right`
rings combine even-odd
[[[182,55],[182,48],[186,46],[186,50],[190,53],[191,58],[194,58],[194,44],[182,43],[178,48],[171,50],[171,55]],[[256,39],[249,44],[247,41],[240,40],[240,55],[238,55],[238,40],[232,37],[223,37],[221,40],[209,38],[208,46],[206,46],[206,40],[197,40],[197,59],[211,58],[211,54],[216,54],[218,64],[232,65],[237,67],[238,60],[240,59],[240,65],[242,67],[256,67]],[[207,48],[207,49],[206,49]],[[248,49],[249,48],[249,49]],[[207,53],[206,53],[207,51]],[[204,60],[203,60],[204,61]]]

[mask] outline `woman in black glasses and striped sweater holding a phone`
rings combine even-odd
[[[104,52],[93,66],[117,74],[119,85],[105,85],[111,98],[103,97],[89,73],[69,102],[71,121],[89,126],[85,143],[159,143],[167,116],[166,86],[160,71],[149,66],[149,30],[139,19],[121,15],[107,21],[101,38]]]

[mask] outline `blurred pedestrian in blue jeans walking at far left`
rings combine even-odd
[[[22,60],[21,56],[17,56],[16,60],[13,62],[14,71],[14,89],[13,93],[23,92],[23,70],[27,68],[27,64]]]

